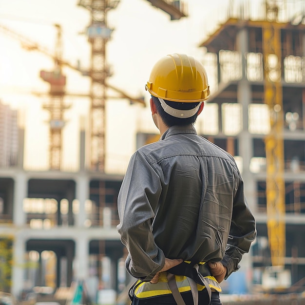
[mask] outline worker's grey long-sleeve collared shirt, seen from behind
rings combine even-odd
[[[118,195],[126,267],[150,281],[165,257],[238,269],[256,236],[234,158],[192,125],[173,126],[132,156]]]

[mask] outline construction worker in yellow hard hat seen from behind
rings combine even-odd
[[[194,128],[210,96],[198,60],[162,57],[145,87],[161,137],[133,154],[118,195],[132,305],[219,305],[219,283],[256,237],[241,174]]]

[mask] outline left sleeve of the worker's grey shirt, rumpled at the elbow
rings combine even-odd
[[[129,273],[143,281],[150,281],[164,266],[163,251],[152,235],[154,209],[161,193],[158,174],[145,155],[135,152],[118,194],[117,230],[128,249],[126,267]]]

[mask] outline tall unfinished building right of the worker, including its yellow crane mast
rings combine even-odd
[[[201,43],[212,67],[207,111],[217,122],[203,135],[234,155],[242,171],[258,229],[254,283],[278,266],[291,282],[275,280],[271,288],[291,283],[297,291],[305,277],[304,13],[281,22],[278,11],[268,13],[229,18]]]

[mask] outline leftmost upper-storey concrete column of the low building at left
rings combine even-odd
[[[27,197],[27,191],[27,176],[24,172],[20,171],[15,177],[13,201],[13,223],[17,227],[24,226],[26,223],[26,215],[23,211],[23,199]]]

